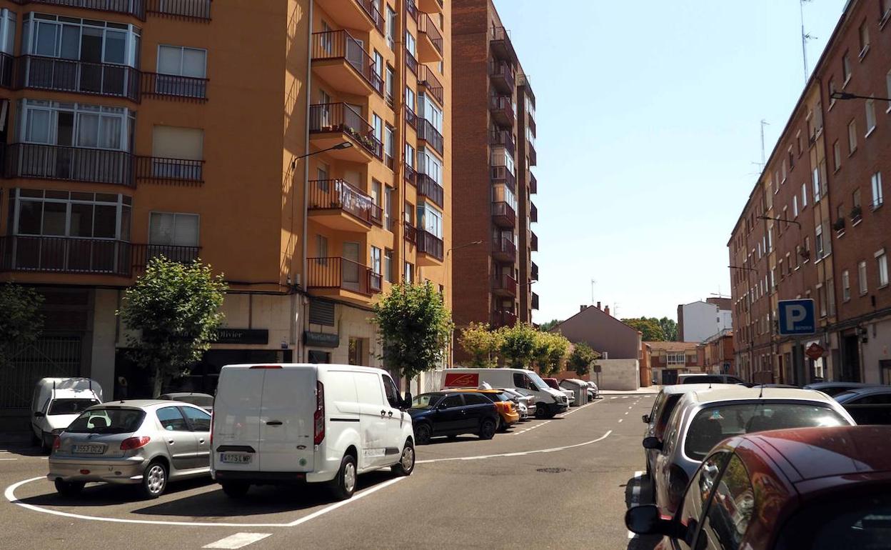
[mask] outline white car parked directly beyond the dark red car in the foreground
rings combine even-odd
[[[674,513],[693,472],[722,439],[754,431],[842,425],[854,425],[854,419],[819,391],[733,386],[687,393],[674,407],[664,439],[643,440],[644,448],[659,451],[652,469],[656,504]]]

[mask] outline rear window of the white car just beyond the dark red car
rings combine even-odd
[[[687,428],[683,451],[694,460],[702,460],[723,439],[743,433],[845,425],[848,422],[829,407],[805,403],[707,406],[697,413]]]

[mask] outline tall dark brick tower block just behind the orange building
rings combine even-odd
[[[454,320],[530,323],[535,94],[491,0],[454,0]]]

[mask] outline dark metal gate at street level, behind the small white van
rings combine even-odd
[[[37,381],[80,375],[80,336],[45,336],[12,349],[11,365],[0,367],[0,409],[27,409]]]

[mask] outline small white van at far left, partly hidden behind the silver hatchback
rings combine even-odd
[[[33,440],[49,451],[53,439],[88,406],[102,403],[102,386],[89,378],[43,378],[31,398]]]

